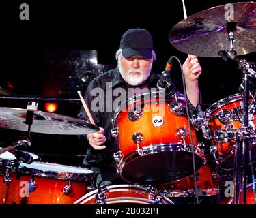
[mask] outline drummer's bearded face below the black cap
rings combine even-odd
[[[124,57],[122,54],[119,59],[119,71],[124,80],[132,85],[142,84],[150,76],[153,58],[146,59],[140,55]]]

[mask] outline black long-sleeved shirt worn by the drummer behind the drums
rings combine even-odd
[[[156,90],[158,80],[159,75],[151,73],[149,78],[143,84],[139,85],[139,88],[142,90]],[[87,143],[87,154],[84,160],[85,166],[96,166],[98,163],[106,164],[106,161],[113,161],[113,153],[119,151],[117,140],[111,136],[111,119],[114,119],[117,107],[126,102],[128,97],[133,94],[128,94],[129,88],[132,88],[132,86],[124,81],[117,68],[100,74],[89,83],[84,97],[85,102],[96,125],[105,130],[106,142],[104,145],[106,149],[95,150],[89,145],[85,136],[79,136],[83,143]],[[125,90],[125,93],[120,94],[122,90]],[[121,92],[119,93],[119,91]],[[117,95],[118,93],[120,95]],[[115,104],[117,102],[120,104]],[[96,110],[98,111],[95,112]],[[78,117],[89,121],[83,108],[81,108]]]

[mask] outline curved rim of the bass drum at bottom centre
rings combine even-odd
[[[146,193],[148,193],[148,189],[150,189],[150,186],[141,186],[141,185],[130,185],[130,184],[120,184],[120,185],[108,185],[106,186],[106,189],[108,191],[111,191],[111,190],[115,190],[117,189],[124,189],[122,191],[125,191],[125,189],[139,189],[140,191],[145,191]],[[85,196],[82,196],[81,198],[79,198],[79,200],[76,200],[76,202],[74,202],[73,204],[83,204],[85,202],[85,200],[91,200],[94,198],[94,196],[96,195],[96,193],[98,193],[98,189],[95,189],[94,191],[90,191],[89,193],[85,194]],[[148,193],[150,195],[150,193]],[[156,189],[156,196],[161,196],[163,198],[163,200],[161,200],[161,202],[168,202],[170,204],[174,204],[169,198],[167,198],[166,196],[163,196],[162,193],[160,193],[158,191],[158,189]],[[91,198],[89,198],[91,197]],[[89,198],[89,199],[87,199]],[[127,196],[119,196],[119,198],[110,198],[109,200],[112,200],[112,199],[120,199],[120,198],[132,198],[132,197],[127,197]],[[146,198],[134,198],[133,200],[135,199],[142,199],[142,200],[148,200],[148,202],[152,202],[154,203],[155,201],[154,200],[150,200],[150,199],[146,199]],[[106,198],[106,202],[109,201],[107,198]]]

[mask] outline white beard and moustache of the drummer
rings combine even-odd
[[[137,86],[137,85],[145,82],[145,80],[147,80],[147,78],[150,76],[150,72],[152,69],[152,63],[147,68],[147,71],[145,72],[145,74],[143,74],[143,71],[141,69],[130,69],[127,74],[124,74],[124,69],[121,64],[118,64],[118,68],[119,68],[119,72],[120,72],[122,78],[124,79],[124,81],[126,81],[128,84],[130,84],[132,86]],[[139,72],[139,74],[133,75],[132,72]]]

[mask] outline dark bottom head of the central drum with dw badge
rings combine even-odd
[[[188,145],[187,145],[188,146]],[[131,161],[124,164],[121,176],[129,183],[156,185],[164,184],[193,174],[193,154],[188,151],[175,151],[177,145],[164,146],[161,151],[152,150],[149,155],[133,155]],[[158,148],[159,150],[161,148]],[[173,149],[172,149],[173,148]],[[149,161],[150,160],[150,161]],[[195,170],[203,165],[203,160],[195,155]]]

